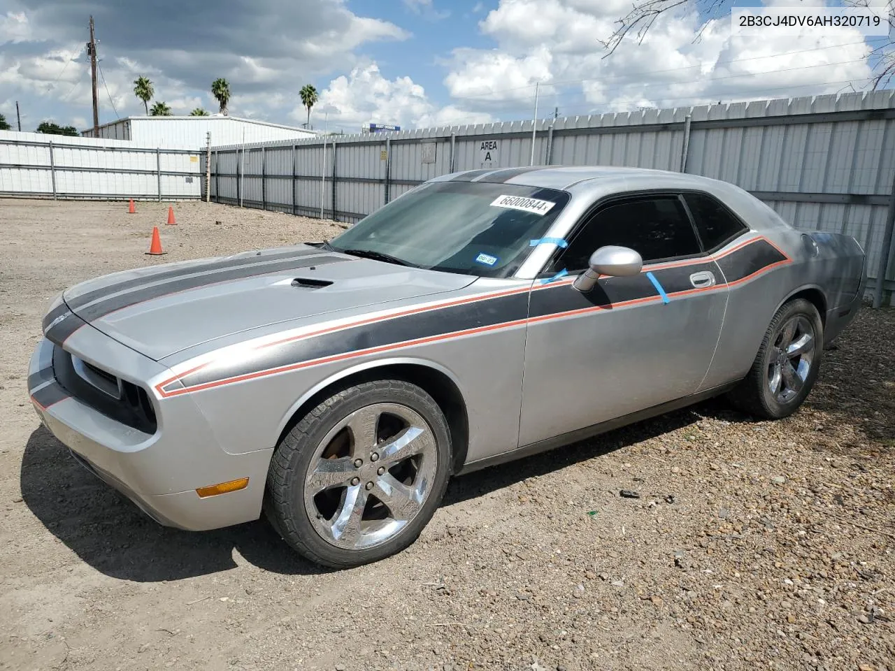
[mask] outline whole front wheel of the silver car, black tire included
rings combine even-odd
[[[376,562],[407,548],[429,523],[451,455],[444,413],[420,387],[351,386],[305,414],[277,446],[265,513],[316,564]]]

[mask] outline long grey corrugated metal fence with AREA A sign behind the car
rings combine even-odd
[[[355,222],[439,174],[637,166],[736,183],[800,228],[854,235],[895,289],[895,92],[786,98],[218,148],[212,200]],[[532,151],[534,149],[534,151]]]

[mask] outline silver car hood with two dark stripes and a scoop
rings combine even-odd
[[[303,244],[115,273],[72,286],[63,300],[90,326],[158,361],[249,329],[456,291],[474,280]]]

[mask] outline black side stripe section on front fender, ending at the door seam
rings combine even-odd
[[[517,293],[439,310],[427,310],[396,319],[384,319],[373,324],[260,349],[251,359],[235,363],[224,361],[201,369],[181,381],[187,387],[202,385],[346,352],[525,319],[527,304],[528,294]]]

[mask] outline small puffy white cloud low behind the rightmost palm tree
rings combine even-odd
[[[346,132],[360,132],[363,123],[371,122],[413,128],[492,121],[485,112],[473,113],[458,106],[439,108],[410,77],[388,80],[375,63],[355,67],[349,75],[337,77],[320,92],[320,101],[311,110],[311,124],[315,128],[323,128],[322,117],[326,111],[329,126],[347,126]],[[297,103],[291,117],[303,123],[306,114],[301,103]]]

